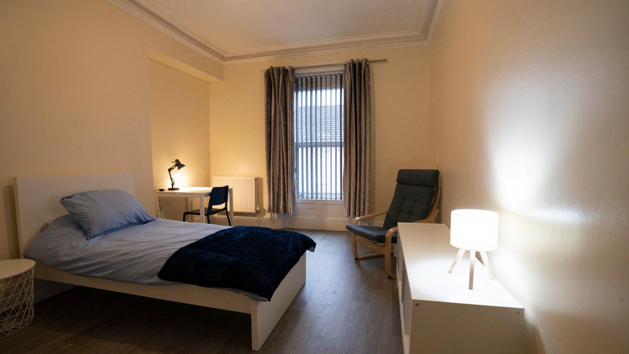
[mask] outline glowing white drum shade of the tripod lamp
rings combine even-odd
[[[450,244],[469,251],[498,248],[498,213],[489,210],[452,210]]]

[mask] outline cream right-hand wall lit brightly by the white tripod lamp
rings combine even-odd
[[[430,44],[443,220],[500,212],[531,352],[629,350],[628,30],[626,1],[450,0]]]

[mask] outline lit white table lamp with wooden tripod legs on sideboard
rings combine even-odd
[[[487,258],[487,251],[498,248],[498,213],[489,210],[459,209],[452,210],[450,218],[450,244],[459,249],[454,263],[448,273],[465,254],[470,251],[470,290],[474,288],[474,263],[476,252],[481,253],[482,263],[489,271],[489,278],[494,278],[494,272]]]

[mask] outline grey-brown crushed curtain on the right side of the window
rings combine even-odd
[[[343,89],[343,204],[346,217],[357,217],[369,213],[371,93],[367,59],[345,64]]]

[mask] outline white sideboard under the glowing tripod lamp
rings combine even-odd
[[[521,353],[524,307],[479,260],[448,273],[458,249],[445,224],[398,224],[398,294],[404,353]],[[489,254],[491,258],[491,254]]]

